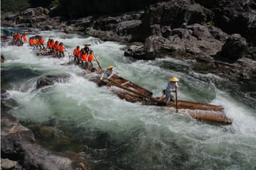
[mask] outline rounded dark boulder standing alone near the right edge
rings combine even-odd
[[[221,54],[225,58],[237,60],[247,53],[247,42],[241,35],[231,35],[221,49]]]

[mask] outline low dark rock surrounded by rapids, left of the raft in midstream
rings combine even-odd
[[[37,80],[37,89],[44,86],[51,86],[55,83],[65,83],[68,82],[70,78],[69,74],[55,74],[55,75],[45,75]]]

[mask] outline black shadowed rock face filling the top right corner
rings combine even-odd
[[[195,1],[213,11],[215,26],[229,34],[239,33],[256,44],[255,0]]]

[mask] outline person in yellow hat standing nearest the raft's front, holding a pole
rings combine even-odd
[[[170,101],[173,101],[173,94],[172,92],[175,92],[176,88],[179,88],[177,82],[179,82],[179,78],[171,77],[169,79],[169,82],[167,84],[167,87],[165,89],[165,104],[168,104]]]

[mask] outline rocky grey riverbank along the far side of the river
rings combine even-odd
[[[226,6],[221,6],[224,3]],[[103,41],[127,43],[125,56],[143,60],[192,59],[197,64],[189,72],[213,73],[229,80],[255,80],[255,6],[255,1],[222,0],[211,4],[171,0],[141,11],[79,19],[50,17],[51,11],[39,7],[1,17],[1,21],[10,27],[81,31]],[[238,23],[243,23],[244,29],[236,27]]]

